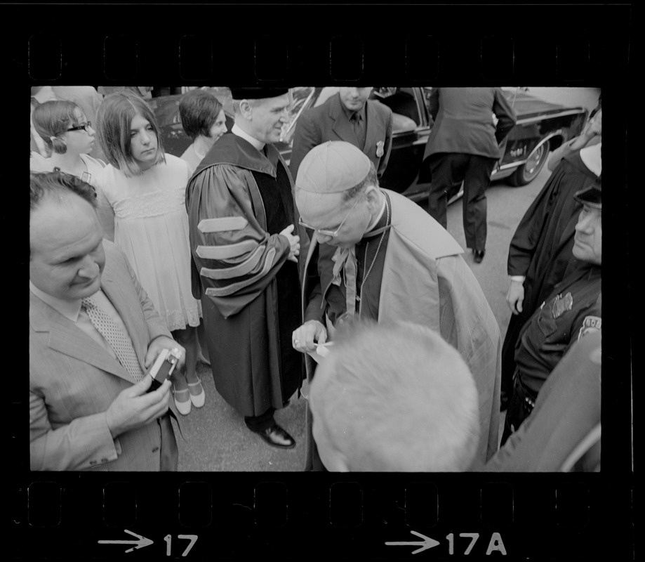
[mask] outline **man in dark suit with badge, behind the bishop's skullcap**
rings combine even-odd
[[[324,104],[300,115],[289,163],[293,178],[307,152],[326,141],[352,143],[374,164],[378,179],[383,176],[392,148],[392,110],[370,100],[371,91],[341,88]]]

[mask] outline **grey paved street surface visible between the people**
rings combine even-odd
[[[597,89],[530,88],[529,93],[555,103],[583,105],[588,110],[596,106],[598,99]],[[498,320],[502,338],[510,320],[510,310],[505,300],[508,245],[521,217],[549,176],[550,171],[545,166],[539,176],[523,188],[512,188],[501,180],[488,189],[488,239],[482,263],[474,263],[472,251],[466,249],[461,201],[453,203],[448,209],[448,231],[464,248],[464,258],[479,280]],[[422,206],[425,204],[422,202]],[[302,470],[305,455],[304,398],[294,397],[289,407],[276,412],[278,423],[291,433],[297,443],[291,450],[279,450],[248,431],[244,419],[220,398],[213,385],[210,367],[199,364],[199,374],[206,389],[206,405],[199,410],[193,408],[187,417],[181,419],[185,440],[178,435],[180,471]]]

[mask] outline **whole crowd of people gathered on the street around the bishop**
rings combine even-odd
[[[230,91],[229,130],[213,93],[182,94],[175,156],[150,89],[32,89],[32,470],[176,470],[199,361],[271,447],[295,447],[274,413],[306,398],[306,471],[599,470],[600,105],[514,233],[503,339],[446,230],[463,181],[481,263],[516,122],[500,89],[433,90],[427,211],[379,186],[393,119],[371,88],[302,112],[289,164],[288,89]]]

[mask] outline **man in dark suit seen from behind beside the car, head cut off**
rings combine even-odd
[[[448,190],[463,181],[466,246],[480,263],[486,251],[486,189],[515,112],[499,88],[435,88],[430,113],[434,126],[423,155],[432,173],[428,212],[447,228]]]

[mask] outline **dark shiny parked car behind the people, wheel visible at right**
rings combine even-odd
[[[227,126],[232,126],[232,100],[228,88],[209,88],[224,105]],[[293,132],[298,117],[310,107],[317,107],[333,96],[337,87],[301,86],[291,89],[293,105],[291,120],[284,127],[277,144],[282,156],[289,162]],[[517,113],[517,124],[510,131],[503,145],[503,156],[493,170],[493,181],[507,178],[514,186],[527,185],[543,168],[550,150],[577,136],[587,121],[583,107],[564,107],[531,96],[520,89],[504,89]],[[392,154],[385,174],[383,187],[403,193],[412,200],[423,200],[430,184],[430,172],[422,167],[427,138],[432,128],[429,100],[432,88],[380,87],[373,89],[372,97],[392,109],[394,114]],[[173,155],[181,155],[190,144],[179,118],[180,95],[152,98],[151,105],[161,127],[164,148]],[[451,197],[460,195],[460,185],[455,185]]]

